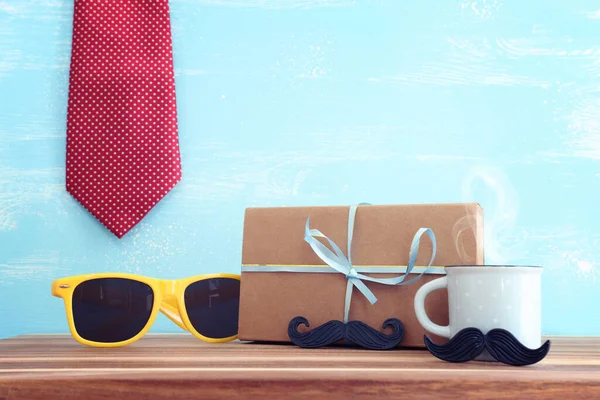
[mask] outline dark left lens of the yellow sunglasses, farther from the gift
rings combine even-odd
[[[122,342],[144,329],[153,305],[154,292],[145,283],[122,278],[85,281],[73,293],[75,329],[93,342]]]

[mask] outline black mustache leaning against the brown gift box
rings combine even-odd
[[[344,324],[342,321],[332,320],[304,333],[298,332],[300,324],[310,326],[306,318],[295,317],[288,325],[288,336],[296,346],[312,349],[346,339],[366,349],[388,350],[396,347],[404,337],[404,326],[396,318],[387,319],[383,323],[383,329],[389,326],[393,328],[393,332],[389,335],[361,321],[350,321]]]

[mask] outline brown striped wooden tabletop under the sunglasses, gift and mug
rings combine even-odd
[[[0,399],[598,399],[600,338],[551,338],[541,363],[450,364],[426,350],[204,344],[147,335],[118,349],[67,335],[0,340]]]

